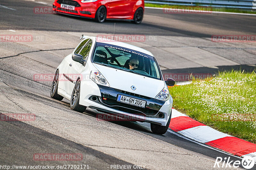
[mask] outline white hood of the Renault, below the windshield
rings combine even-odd
[[[127,71],[93,64],[100,73],[106,78],[111,88],[120,89],[127,92],[155,98],[165,87],[162,80],[157,80],[142,76],[139,74],[130,73]],[[132,86],[136,89],[132,90]]]

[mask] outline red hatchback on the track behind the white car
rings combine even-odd
[[[125,19],[140,24],[144,13],[144,0],[55,0],[53,11],[94,18],[100,23],[106,19]]]

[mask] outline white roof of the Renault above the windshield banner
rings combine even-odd
[[[84,36],[84,37],[89,38],[87,36]],[[150,53],[148,50],[145,50],[145,49],[137,47],[137,46],[133,46],[131,44],[116,41],[116,40],[113,40],[113,39],[106,39],[106,38],[102,38],[102,37],[90,37],[90,38],[95,38],[96,42],[99,42],[99,43],[105,43],[105,44],[110,44],[110,45],[114,45],[114,46],[121,46],[121,47],[128,48],[128,49],[131,49],[131,50],[139,51],[141,53],[148,54],[148,55],[154,57],[154,55],[152,53]]]

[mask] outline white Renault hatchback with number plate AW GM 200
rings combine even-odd
[[[170,124],[172,96],[152,53],[123,42],[87,37],[57,67],[51,97],[70,100],[72,110],[86,107],[151,124],[164,134]]]

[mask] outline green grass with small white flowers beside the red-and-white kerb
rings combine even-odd
[[[173,108],[212,128],[256,143],[256,72],[221,72],[170,89]]]

